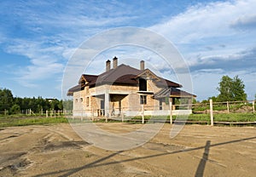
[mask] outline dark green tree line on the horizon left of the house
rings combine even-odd
[[[8,111],[9,114],[21,113],[31,109],[33,112],[41,112],[46,110],[72,110],[72,100],[57,100],[44,99],[41,96],[38,98],[20,98],[14,97],[11,90],[8,88],[0,88],[0,112]]]

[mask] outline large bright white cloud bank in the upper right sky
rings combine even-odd
[[[237,31],[230,28],[230,25],[245,15],[253,16],[256,14],[255,9],[254,0],[196,5],[150,29],[160,32],[174,43],[197,43],[208,37],[235,35]]]

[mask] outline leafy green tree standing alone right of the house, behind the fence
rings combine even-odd
[[[247,94],[244,91],[245,85],[238,76],[233,79],[224,76],[218,84],[218,101],[247,100]]]

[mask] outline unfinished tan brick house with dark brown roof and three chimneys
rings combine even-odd
[[[67,95],[73,96],[73,116],[138,116],[144,108],[145,115],[167,115],[169,103],[175,105],[181,98],[191,103],[194,94],[180,90],[182,85],[158,77],[154,72],[127,65],[118,66],[118,58],[106,61],[106,71],[100,75],[83,74],[79,84],[68,90]],[[172,106],[175,110],[176,106]],[[173,114],[181,110],[173,111]],[[185,108],[183,113],[191,113]]]

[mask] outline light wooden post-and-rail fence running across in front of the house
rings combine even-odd
[[[250,113],[253,118],[245,118],[241,121],[241,124],[254,124],[256,123],[255,115],[255,100],[243,100],[243,101],[225,101],[225,102],[212,102],[196,103],[196,104],[181,104],[172,105],[170,102],[166,106],[138,106],[138,107],[120,107],[114,109],[84,109],[84,110],[41,110],[39,112],[33,112],[31,109],[22,110],[20,112],[27,116],[39,116],[39,117],[69,117],[72,119],[84,120],[89,118],[90,120],[116,120],[127,121],[132,120],[134,122],[145,123],[148,121],[148,116],[157,117],[150,118],[151,121],[163,122],[167,121],[173,123],[182,123],[183,120],[175,119],[178,116],[186,115],[189,119],[186,123],[209,123],[211,125],[216,123],[222,124],[239,124],[240,118],[236,118],[239,114],[244,116],[243,113]],[[7,110],[0,111],[0,115],[8,115]],[[131,118],[136,117],[136,118]],[[174,118],[172,118],[174,117]],[[221,118],[219,118],[221,117]],[[224,118],[223,118],[224,117]]]

